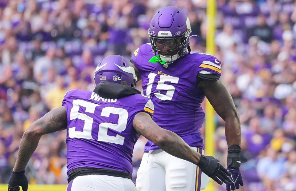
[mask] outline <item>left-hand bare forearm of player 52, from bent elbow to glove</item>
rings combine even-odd
[[[15,172],[20,172],[25,169],[30,157],[37,148],[40,137],[41,135],[35,134],[30,127],[24,133],[19,146],[18,157],[13,168]]]

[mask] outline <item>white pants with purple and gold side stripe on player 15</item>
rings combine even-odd
[[[202,149],[192,147],[199,153]],[[144,153],[137,173],[137,191],[200,191],[210,178],[198,166],[165,151]]]

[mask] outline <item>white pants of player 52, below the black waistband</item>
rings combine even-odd
[[[74,178],[66,191],[136,191],[136,186],[128,178],[95,174]]]

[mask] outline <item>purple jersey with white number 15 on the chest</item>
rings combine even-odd
[[[208,54],[186,54],[164,68],[148,62],[154,56],[150,43],[140,46],[132,59],[142,78],[144,95],[154,103],[153,120],[162,128],[178,134],[190,146],[204,148],[200,127],[204,111],[200,104],[204,93],[196,83],[198,74],[215,74],[220,78],[220,61]],[[145,152],[159,149],[151,141]]]

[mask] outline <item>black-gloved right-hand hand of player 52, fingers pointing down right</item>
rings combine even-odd
[[[212,178],[218,184],[222,185],[223,182],[228,184],[231,182],[229,176],[231,175],[220,162],[212,156],[201,155],[199,163],[197,163],[201,171],[203,171],[208,177]]]

